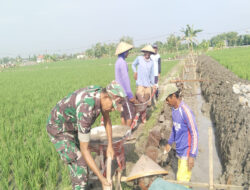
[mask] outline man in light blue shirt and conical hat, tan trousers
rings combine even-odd
[[[136,80],[136,96],[143,103],[151,98],[151,87],[154,87],[154,63],[150,55],[155,53],[151,45],[141,49],[143,56],[138,56],[132,64],[134,78]],[[149,101],[148,105],[151,105]],[[146,122],[146,111],[141,114],[142,122]]]

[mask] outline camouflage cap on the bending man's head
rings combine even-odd
[[[116,81],[112,81],[109,85],[107,85],[106,90],[112,99],[114,108],[117,109],[117,100],[115,99],[115,97],[126,97],[123,88]]]

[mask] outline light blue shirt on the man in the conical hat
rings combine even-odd
[[[132,69],[137,72],[137,86],[151,87],[154,83],[154,63],[151,59],[138,56],[132,64]]]

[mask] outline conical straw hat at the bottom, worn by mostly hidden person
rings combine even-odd
[[[168,174],[166,170],[161,168],[152,159],[146,155],[142,155],[141,158],[136,162],[132,171],[126,178],[126,181],[134,180],[141,177],[146,177],[150,175],[161,175]]]

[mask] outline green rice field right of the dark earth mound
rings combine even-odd
[[[215,50],[207,54],[240,78],[250,80],[250,47]]]

